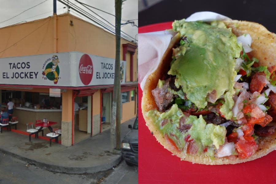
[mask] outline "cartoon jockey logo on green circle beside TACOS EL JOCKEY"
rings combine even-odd
[[[45,67],[45,70],[42,72],[42,75],[45,75],[47,79],[54,81],[54,84],[57,84],[59,80],[59,58],[57,55],[52,57],[52,62],[48,63]]]

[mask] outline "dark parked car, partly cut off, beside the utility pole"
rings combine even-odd
[[[129,166],[138,166],[138,117],[136,117],[133,126],[128,125],[128,128],[131,130],[122,141],[122,156]]]

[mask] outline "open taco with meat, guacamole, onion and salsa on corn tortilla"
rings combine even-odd
[[[174,21],[143,89],[156,140],[181,160],[235,164],[276,149],[276,35],[248,21]],[[252,40],[252,44],[251,44]]]

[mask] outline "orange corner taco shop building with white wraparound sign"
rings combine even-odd
[[[0,39],[0,102],[12,98],[19,121],[12,131],[47,118],[71,146],[109,128],[115,35],[66,13],[1,28]],[[121,95],[125,122],[137,115],[137,54],[124,39]]]

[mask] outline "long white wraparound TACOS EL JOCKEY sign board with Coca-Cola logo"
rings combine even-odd
[[[0,59],[0,85],[98,86],[114,83],[115,59],[64,52]],[[126,62],[121,61],[121,83]]]

